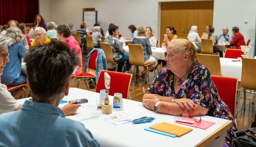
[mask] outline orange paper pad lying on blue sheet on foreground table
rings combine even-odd
[[[182,136],[182,135],[184,135],[184,134],[193,130],[193,129],[190,129],[190,128],[181,127],[181,126],[178,126],[178,125],[173,125],[173,124],[169,124],[169,123],[166,123],[166,122],[159,123],[157,125],[151,126],[150,128],[158,130],[158,131],[163,131],[163,132],[166,132],[166,133],[170,133],[170,134],[176,135],[178,137],[180,137],[180,136]]]

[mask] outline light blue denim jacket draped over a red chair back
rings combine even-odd
[[[106,56],[102,49],[94,48],[93,50],[91,50],[89,52],[89,54],[86,57],[84,72],[88,72],[88,70],[89,70],[89,60],[90,60],[91,54],[94,50],[98,51],[98,56],[96,58],[96,72],[95,72],[96,82],[98,82],[98,78],[100,76],[101,70],[108,70]]]

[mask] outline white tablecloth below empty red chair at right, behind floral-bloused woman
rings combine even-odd
[[[225,77],[235,77],[241,81],[242,61],[232,62],[232,58],[220,58],[221,75]]]

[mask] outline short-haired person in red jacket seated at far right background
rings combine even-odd
[[[231,42],[226,42],[233,46],[235,49],[241,49],[241,45],[246,45],[243,35],[239,32],[239,28],[234,26],[232,28],[232,38]]]

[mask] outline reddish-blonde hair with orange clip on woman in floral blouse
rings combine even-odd
[[[187,39],[173,39],[169,44],[175,44],[175,50],[178,51],[180,55],[183,56],[188,53],[194,63],[198,62],[196,57],[196,48],[191,41]]]

